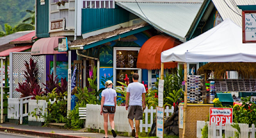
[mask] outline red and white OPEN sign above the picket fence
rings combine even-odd
[[[210,125],[216,123],[216,125],[226,123],[232,123],[233,121],[233,109],[232,108],[210,108]]]

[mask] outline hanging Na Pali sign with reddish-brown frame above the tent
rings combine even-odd
[[[243,43],[256,43],[256,11],[243,11]]]

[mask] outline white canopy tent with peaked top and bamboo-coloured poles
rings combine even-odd
[[[242,28],[227,18],[204,34],[165,50],[161,53],[161,62],[161,74],[164,62],[184,62],[184,81],[187,82],[187,62],[256,62],[256,43],[243,43]],[[187,90],[186,85],[182,137],[186,136]]]

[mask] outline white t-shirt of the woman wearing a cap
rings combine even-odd
[[[115,106],[114,98],[116,97],[116,91],[112,88],[106,88],[102,90],[101,96],[105,97],[104,106]]]

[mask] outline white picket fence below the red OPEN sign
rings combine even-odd
[[[226,123],[225,126],[216,126],[215,123],[209,124],[209,121],[197,121],[196,122],[196,137],[201,138],[202,137],[202,128],[204,128],[205,125],[208,125],[208,137],[216,137],[221,138],[222,137],[222,130],[225,132],[225,137],[234,137],[235,132],[237,132],[236,128],[233,128],[230,123]],[[240,127],[240,138],[255,138],[255,125],[252,124],[252,128],[249,128],[249,125],[246,123],[239,123]]]

